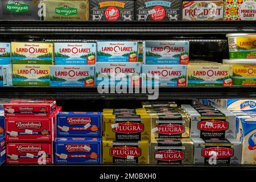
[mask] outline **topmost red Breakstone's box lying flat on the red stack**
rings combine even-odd
[[[5,117],[50,117],[56,101],[11,101],[3,105]]]

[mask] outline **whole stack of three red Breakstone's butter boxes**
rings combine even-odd
[[[11,101],[5,110],[6,163],[51,164],[56,101]]]

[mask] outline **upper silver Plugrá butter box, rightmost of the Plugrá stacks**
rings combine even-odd
[[[191,119],[191,138],[236,138],[236,115],[226,109],[181,105]]]

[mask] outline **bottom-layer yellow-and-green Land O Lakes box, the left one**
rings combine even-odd
[[[50,65],[13,65],[14,86],[49,86]]]

